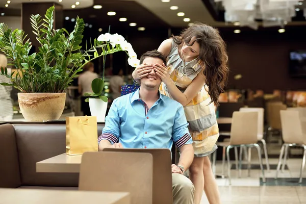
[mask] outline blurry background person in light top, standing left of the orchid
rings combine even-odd
[[[91,116],[89,103],[85,102],[85,99],[88,96],[85,96],[85,93],[92,92],[91,82],[98,78],[98,74],[94,72],[94,64],[92,62],[88,62],[84,66],[84,72],[80,74],[78,80],[78,90],[81,94],[81,110],[83,115]]]

